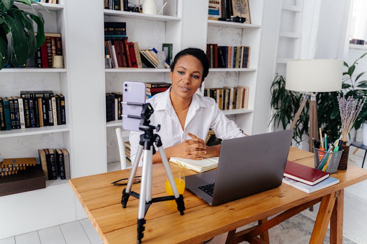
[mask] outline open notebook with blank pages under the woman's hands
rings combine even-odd
[[[203,160],[192,160],[192,159],[184,159],[171,157],[169,162],[177,163],[181,167],[185,167],[187,169],[192,169],[196,172],[204,172],[218,166],[219,157],[212,157]]]

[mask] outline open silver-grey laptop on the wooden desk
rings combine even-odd
[[[224,140],[217,170],[185,177],[188,190],[210,205],[279,186],[293,130]]]

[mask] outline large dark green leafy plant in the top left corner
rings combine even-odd
[[[29,5],[34,13],[19,9],[14,2]],[[37,47],[45,42],[44,18],[34,9],[33,0],[0,0],[0,69],[7,62],[14,67],[23,66],[34,56]],[[34,35],[33,22],[37,24]],[[8,37],[11,40],[11,55],[8,55]],[[10,56],[10,60],[8,57]]]

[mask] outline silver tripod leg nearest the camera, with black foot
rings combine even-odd
[[[149,159],[151,159],[152,151],[144,149],[143,156],[143,169],[141,173],[141,184],[140,184],[140,193],[139,193],[139,210],[138,210],[138,243],[141,243],[141,238],[144,237],[143,231],[145,229],[145,205],[146,205],[146,194],[147,194],[147,181],[148,181],[148,171],[149,171]]]

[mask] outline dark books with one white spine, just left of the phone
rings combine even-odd
[[[122,117],[122,92],[106,93],[106,121],[121,120]]]

